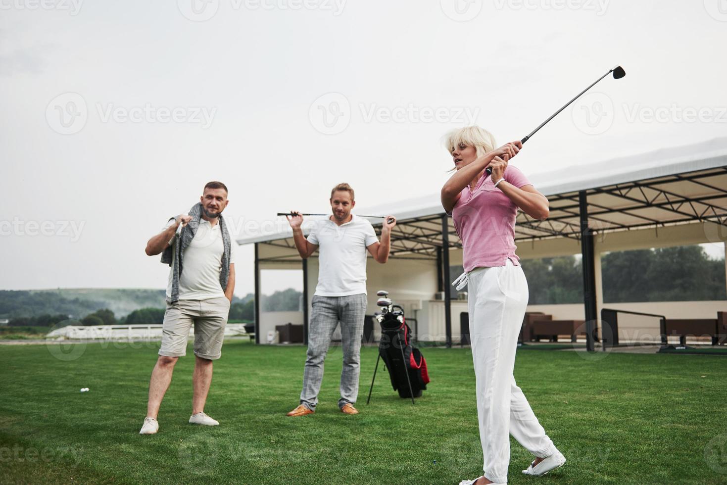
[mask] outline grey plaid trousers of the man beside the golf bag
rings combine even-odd
[[[300,404],[316,410],[318,392],[323,381],[324,360],[339,322],[343,370],[338,406],[353,404],[358,396],[358,374],[361,372],[361,336],[364,334],[366,294],[352,294],[346,297],[314,296],[311,305],[313,311],[310,313],[308,327],[308,356],[305,359]]]

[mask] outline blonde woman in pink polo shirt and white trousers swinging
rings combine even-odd
[[[518,209],[537,220],[549,214],[545,196],[507,164],[522,146],[516,141],[495,148],[494,137],[480,127],[458,129],[446,138],[457,172],[444,184],[441,201],[462,240],[465,273],[454,284],[457,289],[468,285],[484,457],[483,476],[460,485],[507,483],[510,434],[536,457],[523,470],[526,475],[544,475],[566,462],[513,377],[518,333],[528,304],[528,283],[515,255],[515,216]]]

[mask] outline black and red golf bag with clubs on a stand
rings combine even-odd
[[[381,307],[381,313],[374,313],[374,316],[381,325],[381,342],[366,404],[371,401],[379,359],[383,359],[389,370],[391,386],[398,390],[399,397],[411,398],[411,404],[414,404],[414,398],[422,396],[422,390],[429,383],[427,361],[419,349],[411,345],[411,329],[404,320],[403,308],[393,305],[390,298],[387,298],[389,292],[379,291],[376,294],[379,296],[376,304]]]

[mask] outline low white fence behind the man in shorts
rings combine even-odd
[[[190,337],[194,335],[194,326]],[[225,337],[249,336],[244,324],[227,324]],[[46,335],[56,340],[161,340],[161,325],[63,326]]]

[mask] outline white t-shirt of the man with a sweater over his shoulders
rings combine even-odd
[[[164,229],[174,224],[174,220],[166,223]],[[177,244],[174,239],[170,243]],[[237,243],[230,236],[230,264],[235,262]],[[180,276],[180,300],[207,300],[225,296],[220,285],[222,270],[222,254],[225,243],[222,241],[220,223],[210,225],[204,219],[199,220],[197,232],[192,242],[184,250],[182,275]],[[166,285],[166,297],[172,297],[172,279],[174,277],[174,259],[177,249],[172,248],[172,268],[169,268],[169,282]]]

